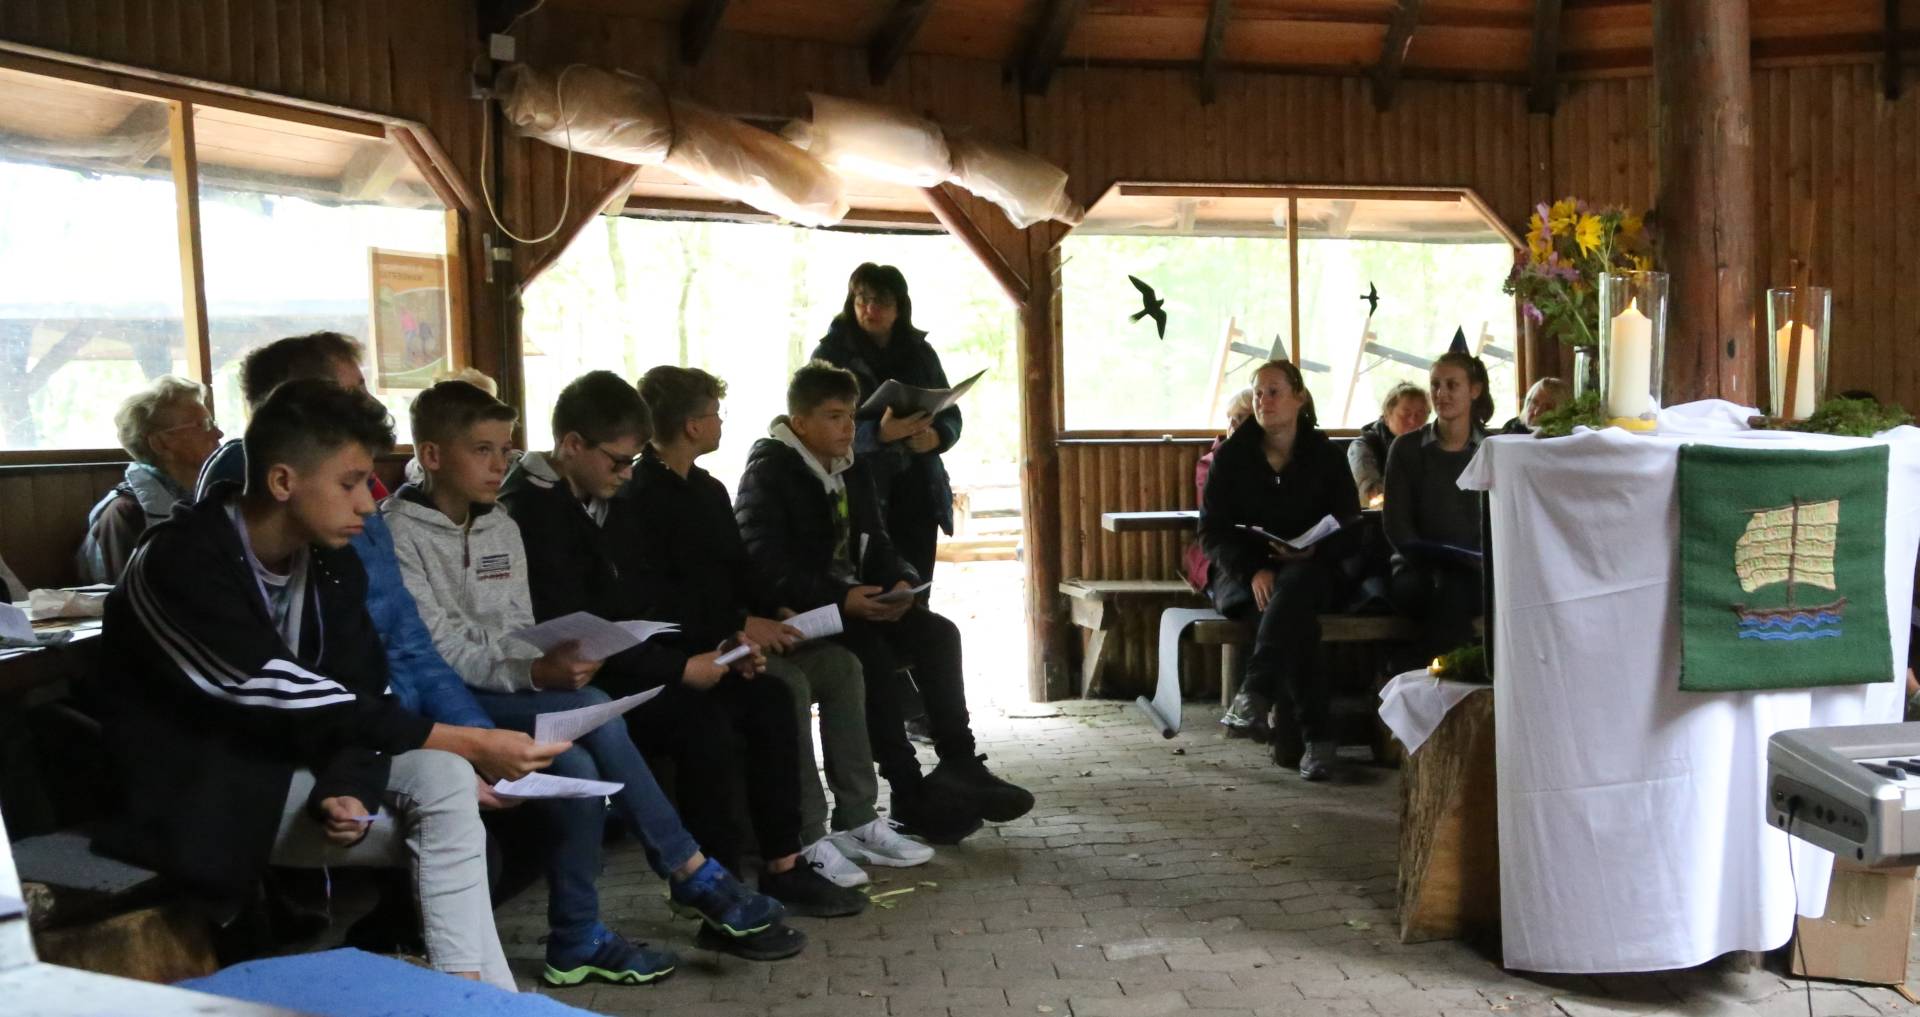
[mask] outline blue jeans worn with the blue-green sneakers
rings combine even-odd
[[[607,702],[607,693],[588,687],[572,693],[482,693],[480,708],[493,723],[515,731],[534,731],[534,718],[557,710],[576,710]],[[647,706],[641,706],[645,710]],[[647,760],[634,748],[626,723],[599,725],[563,752],[547,773],[588,781],[620,781],[612,796],[620,817],[647,848],[647,863],[666,879],[699,854],[701,846],[680,823],[680,814],[660,792]],[[607,835],[607,806],[599,798],[553,798],[528,802],[541,810],[553,829],[547,852],[547,929],[555,942],[574,946],[593,934],[599,923],[601,842]]]

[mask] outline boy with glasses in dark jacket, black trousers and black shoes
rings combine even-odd
[[[555,399],[553,451],[526,453],[507,474],[499,503],[520,524],[536,620],[576,610],[612,622],[645,618],[639,579],[620,568],[618,549],[632,539],[632,520],[612,495],[632,476],[647,434],[639,391],[611,370],[593,370]],[[747,641],[743,631],[726,637]],[[778,681],[751,681],[716,664],[710,647],[687,652],[695,649],[649,639],[609,656],[595,677],[611,695],[664,687],[659,698],[626,714],[626,723],[636,745],[674,760],[676,804],[687,831],[714,860],[739,871],[743,844],[733,817],[745,785],[745,812],[766,860],[760,892],[795,915],[866,910],[866,896],[797,863],[793,697]]]

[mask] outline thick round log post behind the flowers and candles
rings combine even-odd
[[[1665,405],[1753,405],[1753,73],[1745,4],[1653,2]]]

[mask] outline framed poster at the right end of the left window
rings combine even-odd
[[[422,390],[447,370],[445,255],[369,248],[372,361],[380,390]]]

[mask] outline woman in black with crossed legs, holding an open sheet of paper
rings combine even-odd
[[[1298,537],[1325,516],[1350,522],[1359,495],[1346,457],[1315,428],[1300,368],[1269,361],[1254,372],[1254,418],[1213,455],[1200,499],[1200,547],[1212,562],[1208,595],[1229,618],[1260,618],[1246,679],[1221,723],[1252,727],[1277,695],[1292,700],[1306,743],[1300,775],[1325,781],[1336,743],[1327,675],[1317,668],[1319,612],[1340,603],[1340,555],[1350,532],[1304,551],[1240,530]]]

